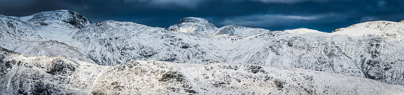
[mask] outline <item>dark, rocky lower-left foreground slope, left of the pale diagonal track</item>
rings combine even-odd
[[[0,48],[0,94],[88,94],[108,66]]]

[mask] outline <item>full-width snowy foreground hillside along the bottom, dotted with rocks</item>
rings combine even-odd
[[[255,64],[129,61],[100,66],[0,48],[2,94],[399,94],[404,86]]]

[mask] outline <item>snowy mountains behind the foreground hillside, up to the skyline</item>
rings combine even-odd
[[[31,56],[62,56],[107,66],[131,60],[260,64],[404,84],[402,22],[364,22],[325,33],[306,28],[217,28],[194,17],[168,28],[118,21],[92,24],[67,10],[0,17],[0,46]]]

